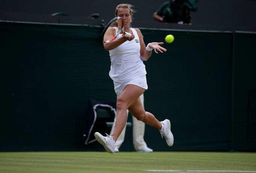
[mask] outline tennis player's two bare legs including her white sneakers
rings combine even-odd
[[[173,135],[171,132],[171,125],[169,120],[159,122],[155,116],[149,112],[145,112],[142,103],[140,101],[140,95],[145,91],[142,87],[134,84],[128,84],[119,96],[116,102],[117,117],[114,132],[111,136],[102,136],[100,133],[95,132],[94,136],[101,145],[104,146],[105,150],[111,154],[114,153],[116,147],[116,140],[120,136],[123,128],[125,127],[127,120],[127,109],[137,120],[143,121],[144,123],[161,129],[160,133],[166,139],[169,146],[173,145]]]

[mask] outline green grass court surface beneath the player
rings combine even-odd
[[[256,173],[256,153],[0,152],[0,173],[152,173],[149,170]]]

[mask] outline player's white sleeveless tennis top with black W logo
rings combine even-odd
[[[135,38],[125,41],[109,51],[111,67],[109,76],[117,83],[125,83],[147,74],[145,65],[140,59],[140,39],[137,31],[131,28]]]

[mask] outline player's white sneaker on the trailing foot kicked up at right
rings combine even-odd
[[[159,130],[161,133],[161,136],[166,139],[167,145],[172,146],[173,145],[173,135],[171,132],[171,123],[169,120],[165,119],[164,121],[161,121],[161,123],[164,125],[163,130]]]

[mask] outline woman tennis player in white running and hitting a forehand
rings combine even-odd
[[[111,154],[114,153],[116,140],[125,127],[127,120],[127,109],[137,120],[145,124],[156,127],[160,130],[162,138],[166,139],[167,145],[173,145],[173,135],[169,120],[158,121],[150,112],[146,112],[140,101],[146,89],[148,89],[146,80],[146,69],[140,57],[147,61],[152,54],[166,52],[161,47],[163,42],[152,42],[145,46],[142,33],[139,29],[131,28],[134,10],[131,4],[119,4],[116,7],[116,16],[123,18],[124,30],[130,33],[130,37],[120,37],[111,42],[104,42],[105,50],[109,51],[111,67],[109,76],[114,82],[114,90],[118,96],[116,107],[117,117],[114,132],[107,136],[102,136],[96,132],[95,138],[101,143],[105,150]]]

